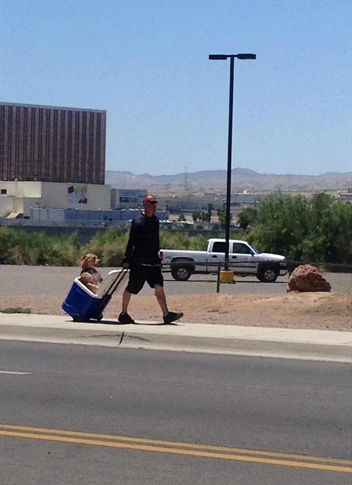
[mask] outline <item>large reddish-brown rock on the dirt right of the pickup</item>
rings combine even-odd
[[[330,283],[324,279],[315,266],[301,264],[292,271],[287,291],[330,291]]]

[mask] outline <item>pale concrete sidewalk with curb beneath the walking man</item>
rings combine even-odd
[[[352,332],[238,325],[74,323],[71,317],[0,313],[0,339],[352,363]]]

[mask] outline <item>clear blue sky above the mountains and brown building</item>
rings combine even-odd
[[[106,168],[352,170],[351,0],[2,0],[7,102],[107,110]]]

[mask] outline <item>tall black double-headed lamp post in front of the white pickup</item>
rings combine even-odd
[[[256,59],[256,54],[209,54],[210,61],[225,61],[226,59],[230,58],[230,97],[229,97],[229,108],[228,108],[226,221],[225,221],[225,270],[228,270],[228,253],[229,253],[229,240],[230,240],[232,113],[233,113],[233,78],[234,78],[235,57],[237,57],[237,59]]]

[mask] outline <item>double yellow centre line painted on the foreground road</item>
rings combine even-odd
[[[63,441],[63,442],[68,442],[68,443],[81,443],[81,444],[86,444],[86,445],[98,445],[98,446],[108,446],[112,448],[128,448],[128,449],[133,449],[133,450],[143,450],[143,451],[151,451],[151,452],[159,452],[159,453],[176,453],[176,454],[182,454],[182,455],[190,455],[190,456],[202,456],[202,457],[208,457],[208,458],[221,458],[221,459],[226,459],[226,460],[238,460],[238,461],[247,461],[247,462],[256,462],[256,463],[265,463],[265,464],[271,464],[271,465],[284,465],[284,466],[289,466],[289,467],[300,467],[300,468],[310,468],[310,469],[320,469],[320,470],[329,470],[329,471],[338,471],[338,472],[352,472],[352,468],[348,466],[342,466],[342,463],[344,464],[349,464],[351,465],[351,462],[348,460],[335,460],[335,462],[341,463],[340,466],[337,465],[331,465],[331,464],[326,464],[330,463],[332,459],[329,458],[319,458],[320,461],[324,463],[311,463],[311,461],[316,460],[317,457],[311,457],[311,456],[306,456],[306,455],[285,455],[282,454],[283,456],[286,457],[294,457],[295,459],[298,459],[298,457],[302,457],[301,459],[306,460],[304,461],[291,461],[291,460],[285,460],[285,459],[275,459],[275,458],[262,458],[260,456],[245,456],[241,454],[235,454],[236,448],[225,448],[225,447],[207,447],[206,445],[192,445],[191,443],[176,443],[176,442],[165,442],[161,440],[148,440],[144,438],[128,438],[126,436],[123,436],[125,440],[128,441],[139,441],[139,444],[134,444],[134,443],[127,443],[126,441],[121,442],[122,440],[120,439],[120,436],[111,436],[111,435],[96,435],[96,434],[90,434],[90,433],[80,433],[80,432],[73,432],[73,431],[60,431],[60,430],[50,430],[46,428],[30,428],[26,426],[12,426],[12,425],[0,425],[0,435],[3,436],[16,436],[16,437],[23,437],[23,438],[34,438],[34,439],[45,439],[45,440],[50,440],[50,441]],[[25,432],[20,432],[20,431],[7,431],[4,428],[7,429],[22,429]],[[29,431],[36,431],[37,433],[30,433]],[[47,433],[51,434],[39,434],[41,430],[45,430]],[[54,433],[61,434],[61,435],[70,435],[70,436],[56,436]],[[85,436],[83,437],[73,437],[73,436]],[[89,439],[89,436],[98,436],[101,438],[109,438],[109,439],[115,439],[115,441],[106,441],[106,440],[98,440],[98,439]],[[151,445],[146,445],[143,443],[154,443],[158,445],[164,445],[164,446],[151,446]],[[165,445],[170,445],[174,447],[165,447]],[[223,451],[226,451],[227,453],[215,453],[214,451],[209,452],[209,451],[198,451],[197,449],[193,450],[184,450],[180,448],[175,448],[175,446],[180,446],[182,445],[183,447],[189,447],[189,448],[199,448],[203,447],[205,449],[221,449]],[[247,454],[256,454],[256,450],[245,450]],[[242,453],[244,453],[244,450],[242,450]],[[279,453],[269,453],[269,452],[263,452],[266,453],[266,456],[277,456]]]

